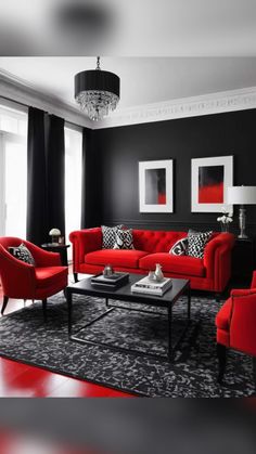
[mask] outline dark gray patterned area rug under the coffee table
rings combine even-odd
[[[153,310],[152,314],[145,314],[127,308],[115,309],[86,332],[81,330],[79,336],[165,354],[167,317],[164,311],[156,314]],[[181,298],[174,310],[174,338],[184,322],[185,308],[185,299]],[[229,352],[225,384],[219,386],[216,381],[215,316],[219,304],[213,299],[193,297],[191,310],[191,325],[171,364],[145,355],[114,351],[107,347],[71,341],[63,294],[49,299],[47,323],[42,322],[40,302],[2,317],[0,355],[145,397],[255,395],[251,359],[238,352]],[[104,311],[104,300],[74,296],[75,328]]]

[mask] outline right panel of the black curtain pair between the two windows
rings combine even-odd
[[[65,144],[64,119],[49,116],[47,141],[48,228],[65,235]]]

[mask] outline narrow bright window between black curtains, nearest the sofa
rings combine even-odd
[[[80,230],[81,219],[81,150],[80,130],[65,128],[65,223],[66,242],[74,230]],[[68,259],[72,259],[68,248]]]

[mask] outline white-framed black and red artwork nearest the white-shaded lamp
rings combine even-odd
[[[233,156],[192,159],[192,212],[218,212],[223,206],[232,212],[233,206],[226,203],[227,187],[232,185]]]

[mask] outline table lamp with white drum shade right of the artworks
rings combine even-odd
[[[245,208],[244,205],[256,205],[256,186],[230,186],[227,191],[227,204],[240,205],[239,210],[239,238],[245,239]]]

